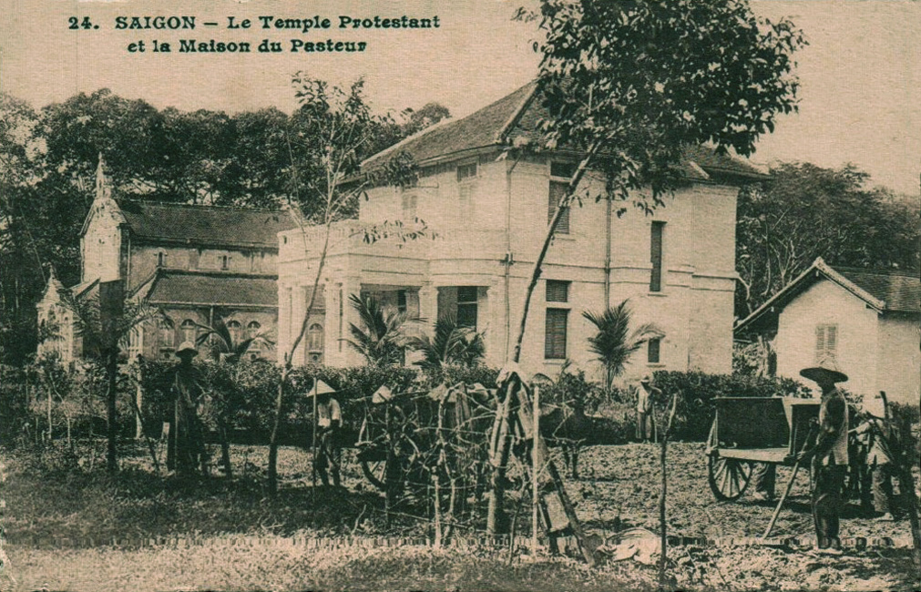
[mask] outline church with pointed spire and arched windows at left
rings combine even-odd
[[[96,194],[80,238],[81,282],[76,297],[120,282],[128,298],[146,298],[169,320],[134,331],[128,354],[171,358],[184,341],[194,342],[216,316],[235,341],[271,334],[278,319],[277,234],[294,226],[284,212],[232,207],[116,202],[99,162]],[[57,351],[64,362],[82,354],[72,312],[60,303],[64,286],[53,276],[39,305],[39,320],[53,320],[56,339],[39,353]],[[274,359],[266,342],[251,358]]]

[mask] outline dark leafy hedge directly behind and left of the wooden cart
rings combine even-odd
[[[666,399],[673,393],[681,393],[671,436],[685,441],[706,439],[715,415],[713,400],[717,397],[810,396],[810,390],[796,380],[781,377],[659,370],[654,383]],[[664,413],[665,401],[657,404],[659,412]]]

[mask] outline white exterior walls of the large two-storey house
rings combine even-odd
[[[472,159],[458,162],[468,161]],[[461,182],[457,180],[457,164],[436,168],[411,190],[376,188],[361,203],[360,222],[381,224],[400,219],[402,195],[412,193],[416,196],[416,215],[426,221],[437,239],[424,238],[401,249],[387,242],[368,247],[336,239],[331,243],[324,281],[429,284],[435,289],[481,286],[478,324],[486,331],[487,362],[498,366],[505,359],[507,342],[509,351],[514,347],[525,287],[546,233],[550,163],[536,158],[513,162],[496,161],[495,155],[479,157],[477,176]],[[593,192],[600,190],[600,179],[587,182]],[[467,203],[461,203],[461,192],[465,192]],[[737,192],[734,187],[695,185],[666,198],[655,215],[644,215],[633,206],[620,218],[612,215],[610,303],[616,305],[629,297],[635,324],[654,322],[665,333],[659,364],[647,364],[644,348],[628,368],[631,377],[659,368],[731,370]],[[663,280],[658,293],[649,291],[653,220],[665,222]],[[542,281],[530,304],[521,355],[526,372],[553,376],[561,366],[560,361],[543,358],[545,311],[551,307],[570,309],[567,356],[577,367],[599,375],[598,364],[587,348],[592,326],[582,318],[582,311],[605,307],[606,224],[605,203],[588,199],[570,212],[570,232],[554,238]],[[347,235],[342,227],[343,236]],[[280,235],[282,328],[288,314],[285,290],[312,281],[321,244],[318,238],[309,239],[305,245],[297,231]],[[514,264],[506,278],[507,267],[501,261],[507,250]],[[567,303],[545,302],[547,279],[571,283]],[[447,306],[444,298],[442,295],[441,304]],[[284,329],[280,336],[281,342],[286,342]],[[337,358],[335,363],[347,361],[346,356],[328,356],[327,361],[333,363]]]

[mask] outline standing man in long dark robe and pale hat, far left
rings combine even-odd
[[[198,418],[198,408],[204,402],[204,389],[199,382],[198,372],[192,366],[192,358],[196,355],[198,350],[192,342],[181,343],[176,350],[180,363],[176,368],[176,377],[171,388],[174,409],[168,447],[171,446],[173,449],[174,468],[181,475],[191,475],[199,468],[202,474],[207,473],[204,430]],[[169,462],[167,464],[169,465]]]

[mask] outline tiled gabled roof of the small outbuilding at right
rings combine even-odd
[[[921,314],[921,278],[918,272],[897,269],[832,267],[818,258],[809,269],[784,286],[736,325],[736,335],[774,329],[780,311],[816,282],[840,285],[880,313]]]

